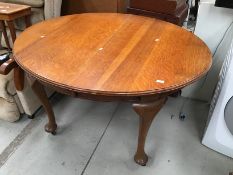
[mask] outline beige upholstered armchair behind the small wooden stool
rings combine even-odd
[[[31,23],[47,20],[60,16],[61,0],[0,0],[0,2],[10,2],[31,6]],[[17,35],[25,29],[24,19],[18,19],[14,26]],[[7,27],[7,33],[10,45],[12,47],[12,38]],[[2,45],[7,44],[2,37]],[[22,91],[17,91],[14,86],[13,71],[7,75],[0,75],[0,119],[14,122],[20,118],[20,114],[32,116],[41,106],[39,100],[35,97],[26,79]]]

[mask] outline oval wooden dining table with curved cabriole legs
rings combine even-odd
[[[146,136],[167,97],[201,78],[212,63],[210,50],[193,33],[161,20],[114,13],[33,25],[17,38],[13,53],[47,112],[49,133],[55,134],[57,124],[44,86],[83,99],[131,102],[140,117],[134,156],[140,165],[148,161]]]

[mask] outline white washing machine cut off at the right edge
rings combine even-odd
[[[223,67],[213,96],[208,123],[202,143],[207,147],[233,158],[233,24],[225,36],[231,44],[224,53]],[[216,54],[221,54],[220,52]]]

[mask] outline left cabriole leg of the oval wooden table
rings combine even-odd
[[[34,79],[31,76],[28,76],[28,80],[29,80],[29,84],[32,87],[32,90],[35,92],[35,94],[37,95],[37,97],[41,101],[46,113],[48,114],[48,123],[45,125],[45,131],[55,135],[56,129],[57,129],[57,124],[55,121],[55,116],[54,116],[54,113],[52,110],[52,106],[49,103],[46,92],[38,80]]]

